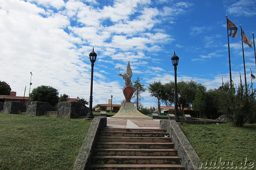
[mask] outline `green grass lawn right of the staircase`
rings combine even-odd
[[[247,161],[256,164],[256,124],[244,124],[239,128],[230,123],[184,123],[180,124],[180,128],[202,161],[217,161],[220,157],[237,164],[246,157]]]

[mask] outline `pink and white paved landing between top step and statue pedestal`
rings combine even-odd
[[[111,119],[107,117],[107,127],[109,128],[156,129],[160,127],[159,122],[160,120]]]

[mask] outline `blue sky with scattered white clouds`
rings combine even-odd
[[[256,32],[256,1],[178,0],[1,0],[0,80],[18,96],[50,85],[70,98],[89,101],[91,63],[94,65],[93,106],[124,100],[124,73],[130,61],[133,76],[145,87],[174,80],[171,57],[180,57],[178,81],[191,79],[210,88],[229,81],[226,14],[238,27],[229,38],[232,80],[244,69],[240,24],[252,41]],[[256,75],[254,47],[244,44],[247,82]],[[255,81],[255,80],[253,80]],[[156,107],[148,92],[145,107]]]

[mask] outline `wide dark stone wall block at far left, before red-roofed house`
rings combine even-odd
[[[3,112],[9,114],[19,114],[21,112],[26,112],[26,105],[17,101],[6,101],[4,102]]]

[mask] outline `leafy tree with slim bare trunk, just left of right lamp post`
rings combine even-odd
[[[155,81],[154,83],[149,84],[148,91],[150,96],[156,98],[158,113],[161,115],[161,101],[165,101],[166,99],[165,86],[161,83],[161,81]]]

